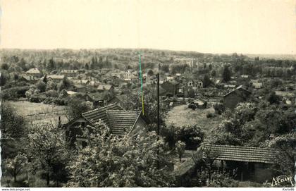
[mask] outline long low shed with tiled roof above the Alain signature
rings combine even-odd
[[[277,149],[259,147],[239,147],[230,145],[205,144],[202,147],[203,158],[212,157],[218,168],[238,169],[237,179],[263,183],[271,181],[279,154]]]

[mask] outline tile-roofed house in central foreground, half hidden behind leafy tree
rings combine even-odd
[[[125,111],[117,104],[100,107],[92,111],[82,113],[78,118],[73,119],[69,123],[63,125],[66,135],[72,146],[75,142],[79,147],[87,144],[87,139],[82,136],[82,130],[91,127],[99,128],[104,126],[111,131],[111,135],[123,136],[125,133],[137,133],[142,135],[146,132],[147,119],[142,116],[140,111]]]

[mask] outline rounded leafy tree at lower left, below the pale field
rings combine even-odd
[[[55,171],[56,166],[59,166],[60,170],[66,169],[66,161],[70,160],[62,130],[48,123],[39,125],[38,128],[31,128],[27,156],[32,164],[35,164],[35,168],[39,168],[46,175],[47,186],[52,179],[62,181],[58,178],[58,173],[65,174],[65,172]]]

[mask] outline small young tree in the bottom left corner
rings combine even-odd
[[[25,167],[27,157],[25,154],[18,153],[13,159],[4,160],[5,168],[8,173],[13,176],[13,180],[16,183],[16,176]]]

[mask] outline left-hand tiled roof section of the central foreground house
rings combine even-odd
[[[94,109],[92,111],[87,111],[82,113],[82,116],[92,123],[96,123],[98,121],[104,121],[104,123],[108,123],[108,118],[106,114],[106,110],[123,110],[121,106],[117,104],[110,104],[109,106],[104,106],[98,109]]]

